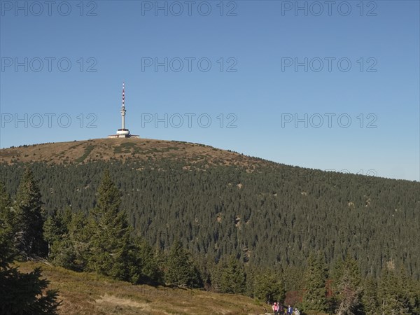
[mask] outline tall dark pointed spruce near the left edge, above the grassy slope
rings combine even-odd
[[[20,181],[15,202],[18,217],[16,239],[22,258],[38,258],[47,253],[47,245],[43,239],[44,218],[41,207],[41,193],[34,180],[34,174],[27,167]]]

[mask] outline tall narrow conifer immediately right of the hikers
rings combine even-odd
[[[325,311],[327,309],[327,269],[325,261],[320,254],[311,253],[308,258],[308,267],[304,274],[304,294],[302,308],[304,311]]]

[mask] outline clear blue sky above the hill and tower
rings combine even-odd
[[[0,1],[0,147],[207,144],[420,181],[419,1]]]

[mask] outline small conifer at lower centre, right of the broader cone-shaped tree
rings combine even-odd
[[[246,274],[244,267],[234,255],[223,266],[220,289],[222,293],[244,293],[246,290]]]

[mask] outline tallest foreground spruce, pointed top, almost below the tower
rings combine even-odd
[[[98,202],[89,218],[90,237],[87,267],[91,271],[130,279],[130,228],[127,214],[120,210],[121,195],[106,169],[98,189]]]

